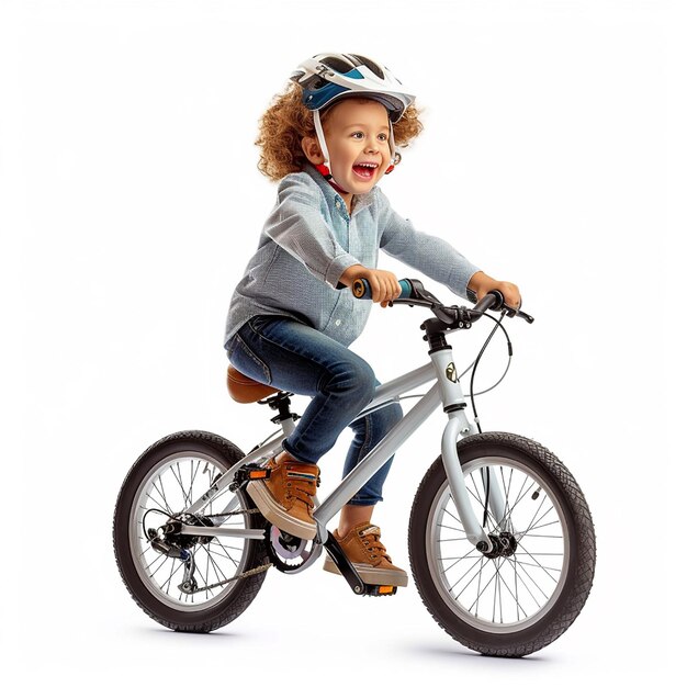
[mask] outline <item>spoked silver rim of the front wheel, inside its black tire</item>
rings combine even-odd
[[[509,633],[537,623],[561,595],[570,568],[570,523],[555,492],[521,462],[485,457],[463,465],[475,513],[484,513],[481,470],[492,468],[506,497],[508,522],[488,511],[485,531],[508,529],[516,550],[488,559],[468,541],[448,482],[427,520],[426,550],[436,588],[450,610],[473,628]],[[532,498],[539,489],[539,495]]]

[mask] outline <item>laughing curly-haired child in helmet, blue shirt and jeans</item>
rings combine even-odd
[[[401,159],[395,146],[423,128],[414,95],[386,68],[361,55],[324,54],[291,79],[261,120],[259,167],[280,182],[278,199],[234,292],[225,346],[239,372],[313,398],[284,452],[270,461],[270,478],[251,482],[248,493],[270,522],[314,539],[319,458],[350,426],[348,474],[402,417],[394,404],[352,423],[379,382],[348,349],[371,307],[348,288],[367,279],[382,306],[401,293],[395,274],[376,269],[379,249],[462,296],[498,289],[517,307],[520,295],[444,240],[414,229],[376,187]],[[390,466],[342,508],[334,536],[363,582],[405,586],[405,571],[392,564],[370,522]],[[325,570],[338,572],[329,559]]]

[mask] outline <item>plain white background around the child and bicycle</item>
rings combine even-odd
[[[678,5],[0,2],[0,651],[24,684],[668,675],[684,608],[684,420],[668,403],[682,364]],[[230,626],[176,634],[116,571],[114,502],[148,444],[199,428],[247,450],[270,430],[263,409],[226,395],[224,317],[273,202],[257,120],[291,69],[326,50],[378,57],[415,90],[426,131],[384,191],[418,228],[518,283],[537,317],[511,323],[511,373],[480,414],[576,475],[598,567],[575,624],[525,661],[454,643],[414,586],[360,599],[318,568],[271,572]],[[388,379],[425,362],[420,322],[375,309],[354,349]],[[504,363],[500,341],[495,351],[485,383]],[[440,427],[432,418],[399,452],[375,514],[404,566]],[[320,463],[323,493],[344,450]]]

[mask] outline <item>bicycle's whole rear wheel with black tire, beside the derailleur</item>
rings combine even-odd
[[[134,600],[167,628],[210,632],[238,617],[260,590],[266,572],[222,583],[267,562],[262,540],[179,536],[184,561],[179,549],[166,555],[153,548],[147,534],[187,518],[181,514],[243,457],[223,437],[183,431],[149,447],[124,480],[113,522],[116,562]],[[252,506],[241,491],[234,498],[225,488],[188,522],[213,525],[203,517],[227,511],[232,502],[232,511]],[[259,514],[239,513],[222,526],[261,529],[266,521]]]

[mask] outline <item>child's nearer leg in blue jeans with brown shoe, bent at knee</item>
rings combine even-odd
[[[251,319],[234,337],[228,353],[244,374],[313,397],[294,432],[283,441],[286,454],[270,464],[270,477],[247,487],[270,522],[313,539],[313,499],[319,477],[315,463],[371,401],[374,373],[345,346],[286,318]]]

